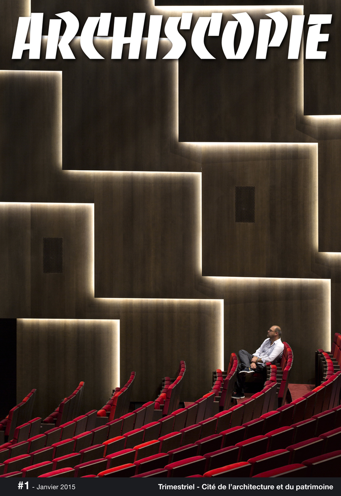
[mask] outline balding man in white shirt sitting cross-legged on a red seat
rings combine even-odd
[[[237,378],[234,386],[235,391],[232,394],[232,398],[245,398],[244,381],[246,374],[252,374],[253,372],[261,372],[266,374],[266,363],[271,362],[272,364],[277,364],[279,362],[284,350],[284,344],[281,341],[281,334],[281,328],[278,325],[273,325],[268,330],[267,339],[261,344],[253,355],[250,355],[250,353],[245,350],[239,351],[238,355],[240,363],[237,367]]]

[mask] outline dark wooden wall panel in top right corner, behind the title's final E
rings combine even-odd
[[[321,33],[329,33],[328,42],[320,42],[319,51],[326,59],[304,61],[304,114],[341,114],[341,33],[340,2],[334,0],[305,0],[304,14],[332,14],[332,23],[322,25]],[[307,29],[306,29],[307,31]]]

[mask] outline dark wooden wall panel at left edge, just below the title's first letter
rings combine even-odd
[[[57,157],[58,144],[60,147],[58,97],[60,74],[56,72],[0,72],[1,197],[4,200],[32,200],[37,190],[44,194],[49,165],[52,168],[57,165],[56,160],[50,162],[51,157]]]

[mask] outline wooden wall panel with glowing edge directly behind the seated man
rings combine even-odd
[[[279,325],[292,347],[290,382],[314,383],[315,355],[329,350],[330,282],[307,279],[204,278],[224,298],[225,367],[232,351],[254,353],[267,330]]]

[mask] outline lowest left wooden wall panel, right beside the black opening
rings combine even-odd
[[[81,413],[101,408],[119,382],[118,333],[114,320],[18,319],[17,401],[37,388],[44,418],[83,380]]]

